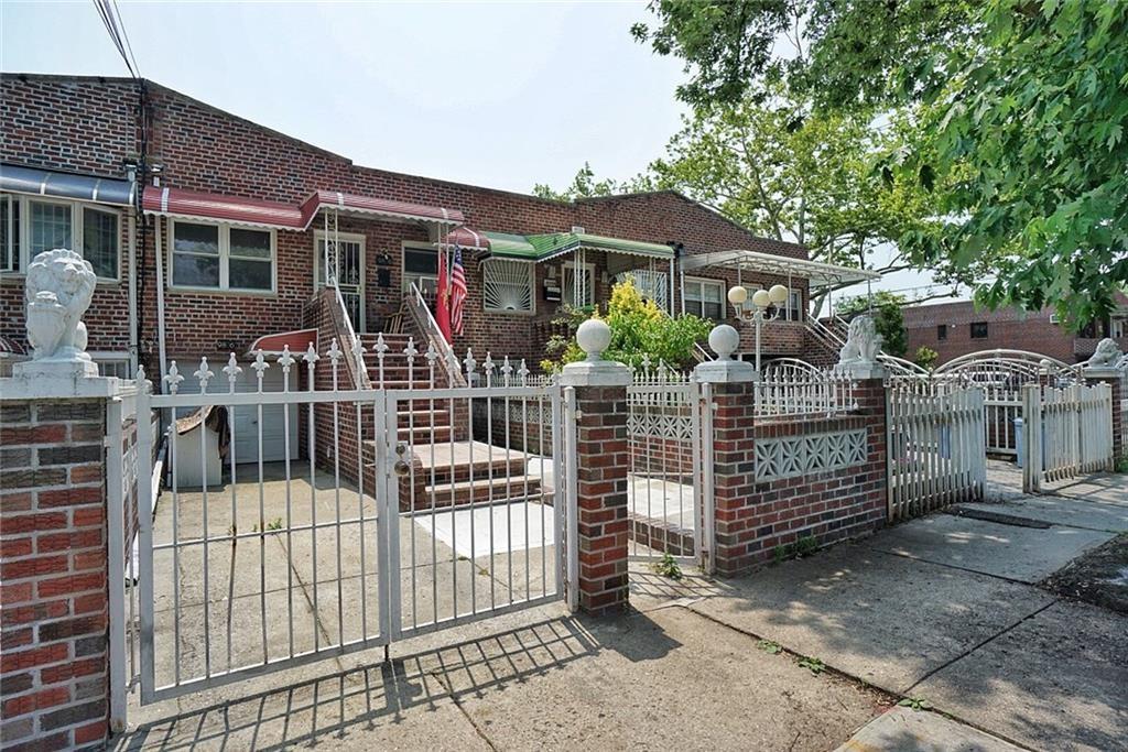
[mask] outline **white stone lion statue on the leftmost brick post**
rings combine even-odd
[[[82,315],[90,307],[97,276],[79,254],[45,250],[27,267],[27,340],[34,360],[89,361]]]

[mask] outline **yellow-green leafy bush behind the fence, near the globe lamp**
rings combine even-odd
[[[546,347],[549,357],[540,368],[554,373],[566,363],[584,357],[575,344],[575,329],[599,311],[592,308],[575,310],[563,307],[556,322],[564,325],[566,334],[554,336]],[[611,289],[611,300],[602,317],[611,329],[611,344],[603,357],[638,368],[644,360],[653,365],[664,363],[676,370],[694,364],[694,344],[708,338],[712,324],[696,316],[670,318],[653,301],[644,300],[627,278]]]

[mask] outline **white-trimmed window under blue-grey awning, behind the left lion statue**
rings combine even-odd
[[[76,201],[0,194],[0,272],[26,269],[36,254],[70,248],[100,280],[117,280],[121,212]]]

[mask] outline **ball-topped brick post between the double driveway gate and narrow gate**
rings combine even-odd
[[[605,361],[608,326],[590,319],[576,330],[588,359],[564,366],[561,383],[575,390],[576,533],[579,608],[589,613],[622,609],[627,574],[627,386],[631,370]]]

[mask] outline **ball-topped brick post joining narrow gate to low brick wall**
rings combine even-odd
[[[756,467],[752,433],[756,383],[751,363],[732,359],[740,334],[728,324],[713,328],[710,346],[717,360],[694,369],[694,378],[713,384],[713,505],[716,570],[734,575],[755,560],[748,550],[756,538],[755,516],[742,512],[752,496]]]

